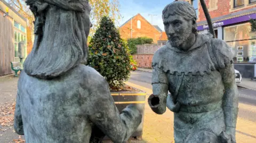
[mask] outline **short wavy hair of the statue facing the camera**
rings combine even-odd
[[[171,15],[178,14],[180,16],[183,16],[184,19],[187,21],[193,21],[194,26],[193,27],[193,32],[197,34],[197,29],[196,29],[196,11],[194,7],[189,4],[188,2],[183,2],[183,1],[175,1],[172,2],[164,7],[163,10],[163,19],[169,18]]]

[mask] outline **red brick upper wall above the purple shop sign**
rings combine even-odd
[[[245,6],[242,6],[242,7],[237,7],[234,9],[234,6],[233,6],[233,2],[234,0],[205,0],[205,3],[206,3],[206,6],[209,7],[209,2],[210,1],[217,1],[217,7],[218,9],[217,10],[209,10],[209,13],[211,15],[211,18],[217,18],[219,16],[223,16],[223,15],[227,15],[227,14],[230,14],[230,13],[234,13],[234,12],[237,12],[237,11],[242,11],[242,10],[246,10],[246,9],[251,9],[252,7],[256,7],[256,4],[249,4],[249,1],[248,0],[245,0],[244,3],[245,3]],[[202,9],[202,6],[201,4],[199,3],[199,7],[198,7],[198,11],[199,11],[199,19],[197,22],[199,21],[205,21],[205,15],[204,15],[204,12],[203,12],[203,9]]]

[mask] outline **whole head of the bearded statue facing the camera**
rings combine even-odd
[[[196,11],[188,2],[176,1],[163,10],[164,30],[173,47],[179,47],[191,34],[197,34]]]

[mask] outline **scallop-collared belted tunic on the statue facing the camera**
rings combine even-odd
[[[181,104],[174,113],[176,143],[197,142],[198,136],[218,142],[226,128],[222,110],[225,86],[219,69],[232,63],[228,45],[209,35],[197,35],[188,51],[167,43],[154,54],[152,83],[169,85],[171,96]]]

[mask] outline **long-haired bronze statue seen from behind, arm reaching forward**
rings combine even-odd
[[[97,126],[125,142],[141,123],[134,106],[119,114],[105,78],[81,64],[87,58],[87,0],[27,0],[35,42],[18,81],[14,129],[26,142],[89,142]]]

